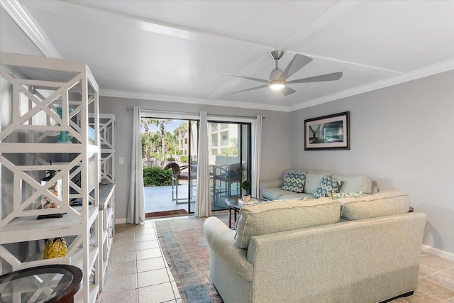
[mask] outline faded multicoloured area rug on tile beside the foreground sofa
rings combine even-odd
[[[227,224],[228,215],[218,215]],[[165,260],[183,302],[223,302],[210,280],[210,252],[203,224],[206,218],[155,221]]]

